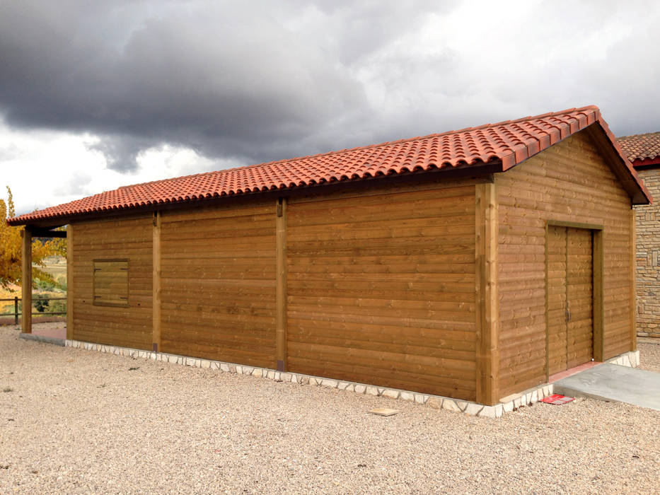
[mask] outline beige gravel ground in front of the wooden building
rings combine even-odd
[[[658,438],[660,412],[626,404],[480,419],[0,327],[0,493],[658,493]]]

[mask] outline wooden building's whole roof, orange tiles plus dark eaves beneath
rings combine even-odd
[[[318,187],[328,190],[349,184],[364,187],[372,181],[382,184],[399,178],[406,180],[405,177],[451,180],[501,173],[583,131],[606,158],[632,204],[649,204],[651,194],[610,132],[601,111],[590,105],[349,150],[144,182],[23,214],[8,223],[47,228],[76,219],[233,202],[236,197],[288,197],[301,190],[309,194]]]

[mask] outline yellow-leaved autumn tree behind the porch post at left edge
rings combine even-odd
[[[12,227],[7,224],[7,219],[16,216],[13,196],[8,186],[7,193],[6,201],[0,198],[0,287],[3,289],[8,289],[12,284],[21,285],[23,279],[21,269],[23,257],[21,231],[23,231],[23,227]],[[52,275],[41,268],[45,267],[44,259],[46,257],[66,253],[66,242],[64,241],[64,239],[52,239],[44,242],[40,239],[33,239],[33,285],[36,279],[54,283]]]

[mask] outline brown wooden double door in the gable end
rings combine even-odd
[[[591,361],[593,239],[584,228],[548,227],[548,373]]]

